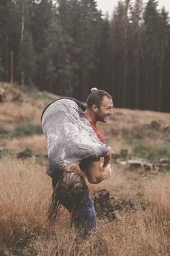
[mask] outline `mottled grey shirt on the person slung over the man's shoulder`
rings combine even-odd
[[[47,173],[52,177],[70,163],[94,161],[108,150],[84,118],[81,108],[69,99],[55,101],[45,110],[42,130],[48,143]]]

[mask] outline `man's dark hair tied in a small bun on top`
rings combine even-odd
[[[92,88],[91,93],[86,99],[86,107],[91,108],[91,106],[96,105],[98,108],[100,108],[104,97],[112,100],[112,96],[109,95],[109,93],[105,92],[104,90],[97,90],[97,88]]]

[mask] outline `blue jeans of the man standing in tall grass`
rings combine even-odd
[[[56,181],[52,180],[53,188]],[[70,209],[67,209],[70,212]],[[76,228],[76,239],[86,239],[92,233],[97,231],[97,218],[94,210],[94,204],[89,195],[89,190],[86,189],[86,197],[82,200],[79,208],[76,210],[75,217],[73,218],[74,226]]]

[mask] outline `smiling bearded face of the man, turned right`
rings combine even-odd
[[[100,107],[97,108],[95,118],[97,121],[107,122],[108,117],[112,114],[113,102],[112,99],[104,96]]]

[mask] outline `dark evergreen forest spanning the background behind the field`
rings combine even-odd
[[[120,108],[170,111],[170,23],[158,1],[1,0],[0,81],[85,100],[107,90]]]

